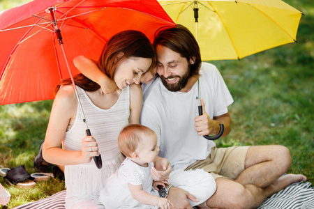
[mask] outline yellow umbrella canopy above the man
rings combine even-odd
[[[158,2],[198,39],[203,61],[241,59],[294,42],[303,15],[280,0]]]

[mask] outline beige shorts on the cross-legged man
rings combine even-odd
[[[205,160],[198,160],[189,169],[204,169],[214,178],[227,177],[235,180],[245,169],[246,153],[250,146],[232,146],[229,148],[212,148]]]

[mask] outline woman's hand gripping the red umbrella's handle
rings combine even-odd
[[[82,139],[82,163],[91,162],[91,158],[94,156],[98,156],[100,153],[98,152],[98,144],[96,139],[92,136],[84,137]]]

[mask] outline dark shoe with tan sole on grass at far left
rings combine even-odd
[[[3,168],[0,169],[1,176],[6,179],[7,183],[11,186],[16,185],[17,187],[33,188],[36,183],[33,181],[34,178],[29,175],[24,165],[15,167],[13,169]]]

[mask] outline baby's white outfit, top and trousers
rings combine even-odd
[[[142,185],[143,190],[149,194],[158,196],[158,192],[153,187],[153,178],[151,178],[151,162],[149,167],[141,167],[126,158],[122,162],[119,170],[112,174],[107,180],[107,185],[100,190],[99,201],[105,208],[158,208],[158,206],[147,206],[133,199],[128,183],[132,185]],[[197,206],[207,201],[216,191],[216,182],[211,174],[197,169],[195,171],[176,170],[170,173],[169,183],[174,187],[179,187],[188,191],[199,199],[199,202],[190,201],[191,206]],[[171,192],[171,191],[170,191]]]

